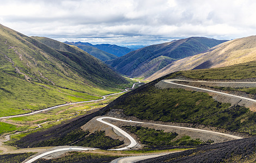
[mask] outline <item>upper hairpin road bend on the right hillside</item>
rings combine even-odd
[[[165,83],[170,83],[170,84],[179,85],[179,86],[183,86],[183,87],[190,87],[190,88],[193,88],[193,89],[198,89],[198,90],[202,90],[202,91],[206,91],[206,92],[212,92],[212,93],[218,93],[220,95],[236,97],[236,98],[240,98],[240,99],[246,99],[247,101],[252,101],[252,102],[256,103],[255,99],[241,97],[241,96],[236,96],[236,95],[231,95],[231,94],[228,94],[228,93],[218,92],[218,91],[214,91],[214,90],[203,89],[203,88],[196,87],[196,86],[178,84],[178,83],[174,83],[175,81],[178,81],[178,82],[205,82],[206,83],[206,81],[190,81],[190,80],[178,80],[178,79],[162,80],[162,82],[165,82]],[[223,82],[208,82],[208,83],[223,83]],[[226,82],[226,83],[234,83],[234,82]],[[255,82],[236,82],[236,83],[255,83]]]

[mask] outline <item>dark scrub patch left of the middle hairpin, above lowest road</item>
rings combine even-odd
[[[101,149],[110,149],[123,145],[123,141],[112,139],[105,135],[105,131],[96,131],[90,134],[89,131],[76,129],[62,137],[52,137],[51,139],[41,141],[32,147],[47,146],[83,146]]]

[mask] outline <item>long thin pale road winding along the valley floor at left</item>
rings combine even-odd
[[[138,82],[138,83],[141,83],[141,82]],[[138,84],[138,83],[133,83],[131,89],[133,89],[133,88],[135,87],[135,85]],[[119,93],[112,93],[112,94],[109,94],[109,95],[105,95],[105,96],[102,96],[101,99],[96,99],[96,100],[92,100],[92,101],[81,101],[81,102],[75,102],[75,103],[62,104],[62,105],[53,106],[53,107],[51,107],[51,108],[46,108],[46,109],[37,110],[37,111],[34,111],[34,112],[29,112],[29,113],[27,113],[27,114],[20,114],[20,115],[13,115],[13,116],[0,117],[0,120],[1,120],[1,119],[5,119],[5,118],[14,118],[14,117],[29,116],[29,115],[37,114],[37,113],[42,112],[42,111],[51,110],[51,109],[56,109],[56,108],[59,108],[59,107],[62,107],[62,106],[67,106],[67,105],[72,105],[72,104],[98,102],[98,101],[102,101],[102,100],[106,99],[107,96],[118,95],[118,94],[120,94],[120,93],[124,93],[124,92],[127,92],[127,91],[129,91],[129,90],[130,90],[130,89],[125,89],[125,91],[122,91],[122,92],[119,92]]]

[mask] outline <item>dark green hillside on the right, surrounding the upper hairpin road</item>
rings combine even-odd
[[[196,79],[256,78],[255,66],[256,62],[247,62],[223,68],[171,73],[117,98],[105,109],[123,109],[125,115],[145,120],[199,123],[256,134],[256,112],[249,108],[217,102],[204,92],[155,87],[162,79],[178,76]]]

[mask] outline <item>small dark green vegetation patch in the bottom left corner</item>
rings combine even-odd
[[[35,153],[15,153],[15,154],[3,154],[0,155],[0,162],[2,163],[20,163]]]

